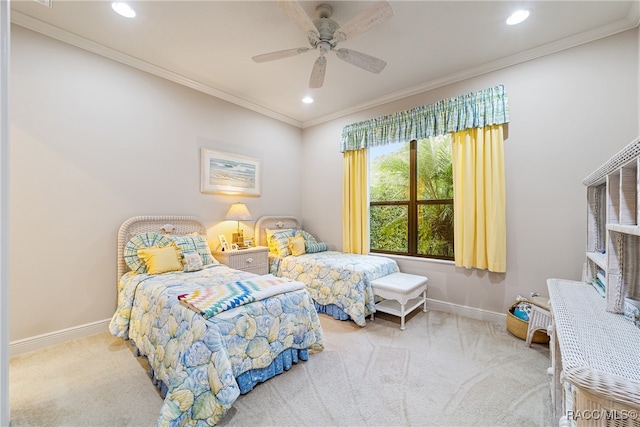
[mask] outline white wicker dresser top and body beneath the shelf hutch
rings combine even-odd
[[[547,281],[556,425],[640,426],[640,328],[591,284]]]

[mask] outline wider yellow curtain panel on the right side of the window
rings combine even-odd
[[[506,271],[503,125],[452,134],[457,267]]]

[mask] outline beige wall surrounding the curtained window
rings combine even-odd
[[[305,129],[302,215],[333,248],[342,241],[340,133],[348,123],[504,84],[507,273],[401,258],[429,277],[431,307],[472,317],[505,313],[516,295],[546,294],[546,279],[581,278],[586,205],[582,179],[638,135],[638,31],[488,73]],[[322,181],[310,177],[333,170]]]

